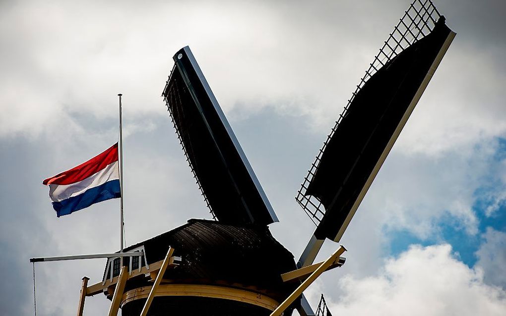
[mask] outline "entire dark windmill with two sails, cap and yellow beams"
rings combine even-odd
[[[78,314],[104,293],[110,315],[314,315],[303,291],[346,249],[316,255],[342,238],[454,36],[431,0],[405,11],[303,180],[296,200],[316,229],[298,260],[270,233],[278,218],[195,57],[178,51],[162,96],[212,219],[111,255],[102,282],[83,278]]]

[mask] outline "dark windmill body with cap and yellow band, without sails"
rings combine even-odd
[[[142,246],[153,264],[163,259],[169,245],[182,262],[165,272],[160,296],[149,309],[153,315],[269,315],[296,285],[281,280],[282,273],[296,266],[293,255],[268,230],[191,219],[126,251]],[[119,268],[113,270],[113,277],[118,274]],[[144,275],[129,279],[122,315],[140,314],[152,283]]]

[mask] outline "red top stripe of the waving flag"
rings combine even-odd
[[[112,145],[100,155],[88,160],[87,162],[81,163],[77,167],[45,179],[42,184],[70,185],[86,179],[90,175],[99,172],[115,161],[118,161],[118,143]]]

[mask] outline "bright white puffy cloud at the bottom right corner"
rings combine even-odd
[[[503,315],[506,292],[484,283],[479,269],[454,258],[450,245],[411,246],[378,275],[345,276],[337,315]]]

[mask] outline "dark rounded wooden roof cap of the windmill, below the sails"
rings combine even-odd
[[[222,284],[269,293],[280,298],[293,290],[280,275],[296,269],[293,255],[269,232],[228,225],[215,220],[190,219],[188,223],[136,245],[144,245],[149,263],[162,260],[168,247],[182,263],[168,269],[164,279],[178,283]],[[142,284],[132,283],[127,288]]]

